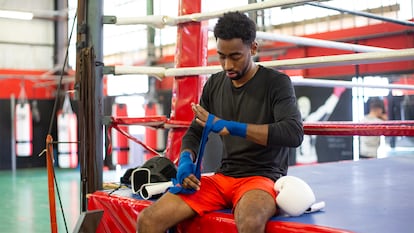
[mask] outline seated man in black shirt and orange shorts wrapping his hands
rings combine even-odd
[[[289,148],[303,139],[294,89],[287,75],[253,62],[256,25],[245,14],[224,14],[214,35],[223,71],[208,79],[200,104],[192,104],[175,187],[139,214],[139,233],[165,232],[225,208],[238,232],[264,232],[277,213],[274,182],[287,174]],[[223,158],[214,175],[200,177],[193,161],[207,126],[221,135]]]

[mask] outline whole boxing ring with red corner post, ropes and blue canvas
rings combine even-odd
[[[104,21],[118,25],[147,24],[162,28],[179,25],[181,41],[178,42],[181,56],[174,68],[149,66],[111,66],[106,67],[107,74],[148,74],[162,80],[164,77],[176,77],[176,99],[173,114],[170,119],[165,116],[148,116],[142,118],[106,117],[103,122],[110,129],[117,129],[129,139],[139,143],[149,152],[158,152],[144,143],[122,132],[121,125],[144,125],[156,129],[170,130],[168,150],[166,152],[174,162],[177,162],[180,139],[188,127],[192,114],[190,102],[197,102],[201,93],[201,83],[205,75],[220,71],[220,66],[206,66],[205,28],[203,20],[215,18],[226,12],[200,14],[200,6],[196,1],[182,1],[181,16],[169,18],[152,16],[144,18],[106,18]],[[250,4],[240,11],[252,11],[289,3],[304,3],[308,1],[266,1],[263,4]],[[186,11],[184,11],[186,9]],[[233,9],[236,10],[236,9]],[[184,12],[188,15],[184,15]],[[191,14],[191,12],[195,12]],[[190,23],[189,23],[190,22]],[[259,34],[265,38],[266,34]],[[196,39],[194,40],[194,37]],[[204,38],[204,39],[203,39]],[[280,39],[280,38],[279,38]],[[286,38],[285,38],[286,39]],[[291,38],[289,38],[291,39]],[[296,38],[297,39],[297,38]],[[188,42],[183,48],[183,41]],[[316,41],[301,41],[313,43]],[[317,41],[318,43],[320,41]],[[180,47],[181,46],[181,47]],[[370,64],[393,61],[408,61],[414,57],[414,49],[390,50],[369,46],[350,46],[344,43],[334,43],[336,46],[363,52],[358,54],[334,55],[324,57],[299,58],[260,62],[263,66],[277,69],[299,69],[324,66]],[[190,48],[190,49],[189,49]],[[200,55],[193,59],[194,51]],[[204,51],[204,52],[202,52]],[[295,84],[313,84],[319,86],[364,86],[341,81],[294,80]],[[308,83],[310,82],[310,83]],[[366,86],[366,85],[365,85]],[[384,86],[373,85],[374,88]],[[386,88],[414,90],[410,85],[387,85]],[[355,122],[306,123],[305,134],[308,135],[392,135],[414,136],[413,121],[389,121],[381,125],[360,124]],[[266,232],[409,232],[414,227],[410,212],[414,209],[411,193],[414,192],[414,156],[389,157],[384,159],[369,159],[360,161],[343,161],[336,163],[316,164],[312,166],[292,166],[288,175],[305,180],[315,192],[317,201],[324,201],[325,208],[314,213],[306,213],[299,217],[275,216],[267,224]],[[97,232],[135,232],[136,220],[139,213],[149,206],[154,199],[145,200],[133,194],[129,188],[115,190],[98,190],[88,194],[88,210],[104,210],[103,218]],[[237,232],[233,215],[229,210],[216,211],[203,217],[195,217],[178,224],[173,232]]]

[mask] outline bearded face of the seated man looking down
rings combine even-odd
[[[221,67],[231,80],[239,80],[244,77],[251,66],[252,55],[256,54],[257,44],[250,46],[243,44],[239,38],[223,40],[217,39],[217,53]]]

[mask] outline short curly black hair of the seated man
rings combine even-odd
[[[238,11],[224,13],[214,27],[214,37],[223,40],[240,38],[244,44],[256,40],[256,23]]]

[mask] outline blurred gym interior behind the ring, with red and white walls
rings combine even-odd
[[[259,0],[257,0],[259,1]],[[217,11],[257,2],[256,0],[206,0],[203,11]],[[260,1],[259,1],[260,2]],[[250,12],[263,32],[355,43],[390,49],[414,47],[414,27],[398,21],[413,22],[412,0],[330,0],[315,1],[335,9],[311,4],[274,7]],[[146,15],[177,16],[178,0],[104,1],[106,16],[138,17]],[[2,211],[0,232],[47,232],[46,159],[42,154],[45,138],[51,130],[58,138],[57,116],[53,115],[56,97],[58,110],[69,100],[76,115],[78,104],[74,91],[76,69],[77,1],[75,0],[0,0],[0,195]],[[367,13],[380,19],[359,15]],[[215,20],[209,20],[210,26]],[[75,27],[74,27],[75,26]],[[110,65],[174,67],[177,28],[157,29],[145,25],[103,25],[103,63]],[[214,53],[214,38],[209,34],[208,64],[218,64]],[[332,48],[298,45],[259,39],[257,61],[293,59],[343,54]],[[345,51],[345,53],[353,53]],[[66,59],[67,55],[67,59]],[[414,84],[414,63],[395,62],[387,65],[354,65],[315,69],[286,70],[292,78],[341,80],[364,84]],[[58,83],[63,77],[61,90]],[[162,81],[147,75],[104,76],[104,115],[140,117],[148,114],[165,115],[171,111],[173,77]],[[318,112],[332,95],[333,87],[296,86],[297,97],[310,100],[309,114]],[[387,88],[348,88],[339,101],[325,112],[319,121],[360,121],[367,111],[370,97],[380,97],[386,104],[390,120],[414,120],[414,91]],[[32,138],[30,155],[16,154],[14,114],[17,104],[27,102],[31,107]],[[52,120],[53,119],[53,120]],[[105,129],[107,130],[107,129]],[[129,126],[131,135],[162,152],[166,148],[167,130],[152,130]],[[147,152],[117,134],[119,150],[104,154],[104,180],[118,182],[122,172],[142,164]],[[212,140],[215,141],[215,140]],[[358,136],[318,136],[312,138],[317,161],[357,160]],[[218,141],[212,143],[219,143]],[[106,145],[107,146],[107,145]],[[121,147],[124,148],[121,148]],[[114,146],[116,148],[116,146]],[[414,154],[414,139],[382,137],[379,157]],[[59,228],[73,228],[80,212],[79,167],[59,164],[59,149],[55,149],[56,175],[63,200]],[[219,152],[210,147],[206,171],[214,170]],[[103,151],[107,151],[105,147]],[[66,153],[66,152],[65,152]],[[292,151],[291,165],[297,163]],[[126,156],[126,157],[125,157]],[[121,162],[121,157],[123,162]],[[62,162],[63,163],[63,162]],[[66,214],[66,216],[62,216]],[[12,223],[12,224],[11,224]]]

